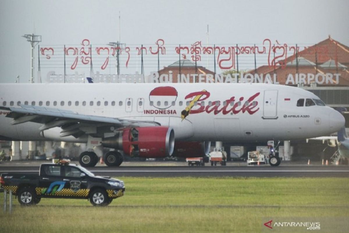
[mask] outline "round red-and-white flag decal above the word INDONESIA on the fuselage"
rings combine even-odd
[[[157,109],[166,109],[171,107],[177,96],[178,93],[174,87],[156,87],[150,92],[149,101],[152,101]]]

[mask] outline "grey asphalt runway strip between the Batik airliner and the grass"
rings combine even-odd
[[[133,162],[120,167],[97,166],[88,168],[99,176],[136,176],[136,177],[349,177],[349,166],[321,166],[301,165],[297,163],[285,163],[278,167],[269,165],[246,166],[242,163],[228,163],[228,166],[202,166],[188,167],[185,162],[166,162],[161,166],[149,166],[147,162]],[[19,163],[19,166],[0,165],[0,173],[21,172],[38,174],[40,163]],[[157,165],[158,163],[150,163]],[[162,166],[162,165],[168,166]],[[16,164],[17,165],[17,164]],[[143,166],[142,166],[143,165]],[[172,165],[172,166],[171,166]],[[175,165],[175,166],[173,166]]]

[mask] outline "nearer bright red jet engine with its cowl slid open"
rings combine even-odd
[[[164,126],[130,128],[104,138],[102,145],[135,157],[166,157],[173,153],[174,131]]]

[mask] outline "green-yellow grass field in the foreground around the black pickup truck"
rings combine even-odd
[[[12,214],[0,212],[0,232],[260,232],[265,218],[349,217],[349,178],[120,179],[125,196],[108,207],[15,199]]]

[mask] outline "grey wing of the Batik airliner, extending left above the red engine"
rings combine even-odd
[[[54,127],[62,128],[60,137],[74,136],[80,137],[83,134],[100,135],[105,132],[135,126],[158,126],[152,121],[130,121],[122,118],[91,116],[79,114],[74,111],[47,108],[32,105],[20,105],[20,107],[0,107],[2,110],[10,111],[6,117],[13,118],[12,125],[25,122],[35,122],[43,124],[39,130],[44,131]]]

